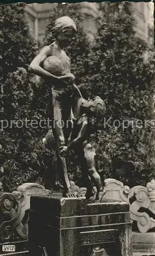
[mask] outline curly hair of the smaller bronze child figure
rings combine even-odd
[[[105,101],[102,100],[99,96],[96,96],[92,100],[90,109],[92,112],[95,112],[97,115],[104,115],[106,113]]]

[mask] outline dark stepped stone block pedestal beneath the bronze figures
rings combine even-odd
[[[87,203],[61,194],[32,196],[30,256],[132,256],[126,202]]]

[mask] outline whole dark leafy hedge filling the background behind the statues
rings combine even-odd
[[[153,79],[154,48],[135,37],[130,3],[99,4],[96,20],[98,33],[92,48],[81,22],[80,4],[56,4],[46,29],[44,45],[51,44],[51,28],[56,18],[68,15],[77,25],[77,35],[66,52],[71,58],[71,72],[85,97],[99,95],[107,105],[105,120],[95,120],[92,143],[97,150],[97,168],[102,178],[116,178],[130,186],[145,185],[154,173]],[[2,120],[37,120],[47,118],[49,85],[38,84],[28,74],[38,47],[25,22],[24,4],[0,6],[1,67],[0,84]],[[104,14],[104,15],[103,15]],[[110,118],[110,125],[105,122]],[[117,120],[117,121],[115,121]],[[141,120],[146,127],[122,129],[123,120]],[[20,121],[20,122],[21,122]],[[114,123],[115,121],[115,123]],[[127,121],[125,124],[127,124]],[[120,123],[119,127],[118,123]],[[21,123],[18,123],[20,125]],[[140,123],[141,124],[141,123]],[[138,126],[138,125],[137,125]],[[53,152],[42,145],[47,127],[13,125],[1,131],[1,181],[5,191],[23,182],[46,184],[51,172]],[[70,177],[81,185],[80,167],[70,154]]]

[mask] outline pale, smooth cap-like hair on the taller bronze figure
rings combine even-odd
[[[77,32],[74,21],[68,16],[57,18],[54,22],[54,27],[51,30],[53,36],[56,38],[60,31],[63,29],[72,28],[74,32]]]

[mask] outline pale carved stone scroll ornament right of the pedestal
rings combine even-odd
[[[130,204],[131,222],[137,222],[138,230],[145,233],[155,227],[155,181],[148,182],[146,187],[124,186],[115,179],[105,180],[106,194],[104,199],[125,201]]]

